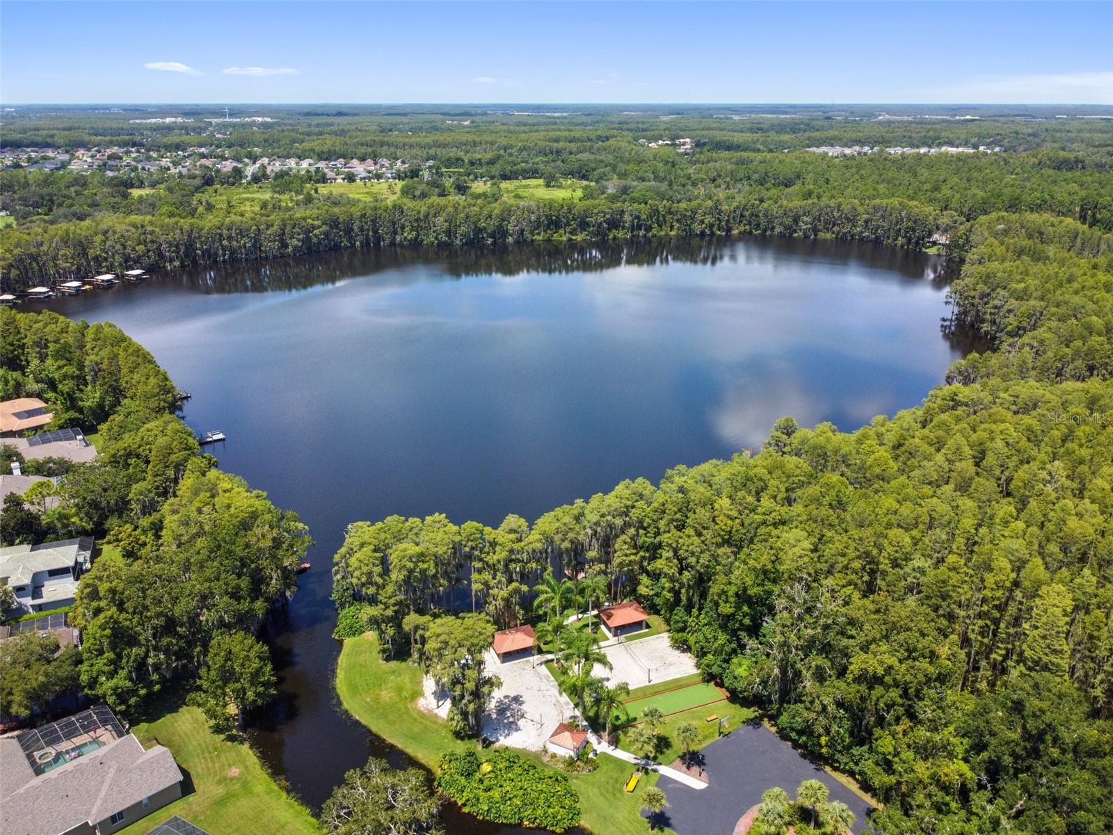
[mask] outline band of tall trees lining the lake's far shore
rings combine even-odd
[[[92,272],[181,268],[332,249],[759,234],[870,240],[923,248],[947,218],[906,200],[646,204],[611,200],[477,204],[454,198],[315,205],[252,218],[105,216],[2,233],[8,291]]]

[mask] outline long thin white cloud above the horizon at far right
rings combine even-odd
[[[1113,72],[979,76],[933,90],[932,98],[992,105],[1113,105]]]

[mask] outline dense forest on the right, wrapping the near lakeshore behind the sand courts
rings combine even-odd
[[[532,524],[355,523],[337,603],[396,652],[457,587],[508,626],[550,567],[598,576],[868,787],[879,831],[1107,832],[1113,236],[998,214],[961,238],[954,322],[994,350],[923,406],[853,433],[786,418],[755,455]]]

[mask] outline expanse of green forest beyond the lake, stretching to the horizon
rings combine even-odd
[[[1113,129],[1097,119],[267,112],[276,121],[228,126],[220,138],[204,121],[152,126],[125,118],[136,114],[7,118],[6,147],[119,145],[193,157],[188,170],[175,174],[0,171],[0,208],[16,220],[0,229],[3,287],[137,263],[178,268],[396,244],[756,233],[923,248],[933,235],[992,212],[1047,213],[1113,229]],[[90,122],[98,134],[73,132]],[[681,138],[692,140],[689,153],[651,144]],[[836,143],[985,150],[839,157],[804,150]],[[246,171],[267,155],[408,161],[398,168],[396,190],[356,196],[322,186],[319,170],[256,171],[250,196],[259,199],[248,210]],[[220,160],[236,166],[221,170]],[[531,178],[572,184],[574,194],[554,188],[514,198],[498,188]]]

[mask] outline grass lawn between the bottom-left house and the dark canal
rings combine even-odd
[[[322,832],[309,812],[270,778],[247,745],[214,734],[197,708],[170,705],[158,711],[157,718],[131,730],[144,745],[157,740],[170,749],[187,777],[187,787],[193,783],[193,793],[121,829],[125,835],[150,832],[171,815],[180,815],[211,835],[263,829],[293,835]]]

